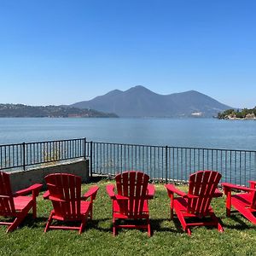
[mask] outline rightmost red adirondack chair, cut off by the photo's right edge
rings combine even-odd
[[[249,181],[250,188],[237,186],[231,183],[222,183],[226,198],[226,214],[230,217],[231,206],[256,224],[256,181]],[[245,193],[231,195],[232,190],[240,190]]]

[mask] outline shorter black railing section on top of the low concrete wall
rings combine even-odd
[[[0,169],[17,169],[85,157],[85,138],[0,145]]]

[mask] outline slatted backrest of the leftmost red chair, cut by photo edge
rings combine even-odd
[[[15,203],[9,181],[9,174],[0,172],[0,215],[15,216]]]

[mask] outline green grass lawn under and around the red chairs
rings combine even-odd
[[[154,200],[149,202],[153,236],[146,230],[119,230],[112,235],[111,201],[102,180],[95,204],[94,219],[89,221],[84,233],[76,230],[49,230],[44,233],[51,210],[50,201],[38,197],[38,218],[32,214],[18,230],[6,234],[0,227],[1,255],[255,255],[256,227],[239,213],[225,217],[224,197],[214,199],[212,207],[222,219],[224,233],[215,228],[192,228],[192,236],[183,232],[176,218],[169,220],[169,198],[163,184],[156,184]],[[84,184],[85,192],[92,184]],[[183,186],[183,190],[188,189]]]

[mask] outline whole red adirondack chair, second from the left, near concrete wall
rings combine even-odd
[[[44,199],[52,201],[53,210],[44,229],[84,230],[88,218],[92,219],[92,205],[96,199],[98,187],[94,186],[81,196],[81,177],[68,173],[53,173],[47,175],[45,181],[48,191]],[[90,201],[85,201],[90,198]],[[80,226],[51,225],[53,220],[64,222],[81,222]]]

